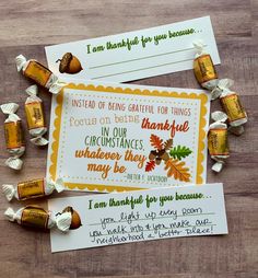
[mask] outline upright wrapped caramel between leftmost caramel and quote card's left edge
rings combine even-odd
[[[25,102],[25,113],[28,132],[33,137],[31,142],[36,146],[45,146],[48,140],[43,136],[47,132],[47,128],[43,113],[43,101],[37,96],[37,85],[28,86],[25,92],[28,94]]]

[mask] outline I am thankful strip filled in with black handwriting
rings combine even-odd
[[[71,207],[75,230],[51,230],[51,251],[67,251],[179,236],[226,234],[222,184],[57,198],[54,213]]]

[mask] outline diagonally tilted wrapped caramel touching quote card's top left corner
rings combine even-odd
[[[34,59],[26,60],[23,55],[19,55],[15,60],[17,71],[22,70],[26,78],[30,78],[38,85],[48,89],[50,93],[59,93],[64,85],[64,83],[61,83],[48,68],[44,67],[38,61]]]

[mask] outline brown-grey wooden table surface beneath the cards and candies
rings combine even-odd
[[[8,222],[9,206],[0,196],[0,277],[258,277],[258,1],[257,0],[12,0],[0,1],[0,103],[16,102],[30,84],[16,72],[19,54],[46,63],[44,46],[145,28],[211,15],[222,63],[220,77],[235,80],[249,121],[242,137],[230,136],[231,158],[219,175],[223,182],[228,235],[131,243],[93,250],[50,253],[49,233]],[[199,88],[191,70],[141,80],[140,84]],[[40,94],[49,123],[50,95]],[[212,103],[212,111],[218,108]],[[19,115],[24,118],[24,111]],[[0,114],[0,123],[4,116]],[[0,134],[0,184],[45,174],[47,149],[28,142],[21,173],[8,158]],[[208,162],[210,169],[211,161]],[[66,193],[64,195],[69,195]],[[54,196],[55,197],[55,196]],[[12,204],[19,207],[19,202]],[[46,206],[46,202],[43,201]]]

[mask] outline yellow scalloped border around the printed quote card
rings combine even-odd
[[[62,103],[63,103],[63,91],[66,89],[75,89],[75,90],[89,90],[96,92],[112,92],[117,94],[133,94],[133,95],[152,95],[152,96],[163,96],[163,97],[180,97],[180,99],[194,99],[201,101],[201,109],[200,109],[200,124],[199,124],[199,151],[197,157],[197,177],[196,184],[202,184],[204,181],[202,178],[203,161],[204,161],[204,146],[206,146],[206,130],[204,127],[207,125],[206,114],[207,108],[206,104],[209,101],[207,94],[204,93],[187,93],[187,92],[175,92],[175,91],[150,91],[148,89],[130,89],[130,88],[120,88],[120,86],[104,86],[104,85],[94,85],[94,84],[67,84],[61,92],[57,95],[57,106],[54,112],[54,130],[52,130],[52,142],[49,146],[50,151],[50,166],[48,167],[49,173],[48,176],[52,181],[57,178],[57,160],[58,160],[58,149],[59,149],[59,136],[60,136],[60,125],[61,125],[61,116],[62,116]],[[139,187],[127,187],[127,186],[109,186],[109,185],[92,185],[92,184],[78,184],[78,183],[66,183],[64,186],[69,189],[80,189],[80,190],[89,190],[89,192],[103,192],[103,193],[112,193],[112,192],[126,192],[126,190],[137,190],[143,189]]]

